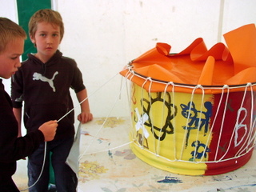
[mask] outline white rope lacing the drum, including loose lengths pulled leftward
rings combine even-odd
[[[173,99],[173,103],[174,103],[174,87],[175,87],[175,86],[192,89],[193,91],[192,91],[192,95],[191,95],[191,98],[190,98],[190,107],[189,107],[189,111],[191,110],[191,105],[192,105],[191,103],[193,102],[194,92],[195,92],[196,89],[201,89],[201,90],[202,90],[202,102],[203,102],[203,98],[204,98],[204,94],[205,94],[205,91],[204,91],[205,89],[209,89],[209,90],[220,90],[220,89],[222,89],[222,96],[221,96],[220,102],[219,102],[219,104],[218,104],[218,108],[217,108],[217,112],[216,112],[214,121],[213,121],[212,126],[211,126],[211,128],[210,128],[210,134],[212,134],[213,129],[214,129],[214,123],[215,123],[215,121],[216,121],[216,119],[217,119],[218,111],[219,111],[220,106],[221,106],[221,101],[222,101],[222,97],[223,97],[223,94],[224,94],[224,90],[227,89],[227,93],[226,93],[226,105],[225,105],[224,114],[223,114],[223,118],[222,118],[222,125],[221,125],[221,128],[220,128],[220,134],[219,134],[219,139],[218,139],[218,145],[216,146],[215,158],[214,158],[214,161],[207,161],[207,163],[210,163],[210,162],[213,162],[213,163],[214,163],[214,162],[220,162],[220,161],[222,161],[222,162],[223,162],[223,161],[228,161],[228,160],[230,160],[230,159],[242,157],[243,155],[246,154],[246,153],[244,153],[244,154],[242,154],[242,153],[237,153],[234,158],[226,158],[226,159],[225,159],[224,157],[226,156],[226,154],[228,153],[228,150],[230,149],[231,143],[229,143],[229,146],[228,146],[228,148],[227,148],[227,150],[226,150],[226,153],[225,153],[224,155],[222,155],[222,158],[219,158],[219,159],[217,160],[218,148],[219,148],[219,145],[220,145],[220,138],[222,138],[222,128],[223,128],[223,124],[224,124],[224,117],[225,117],[225,113],[226,113],[227,100],[228,100],[228,98],[229,98],[230,90],[232,90],[232,89],[238,89],[238,88],[244,88],[245,86],[238,85],[238,86],[231,86],[231,87],[229,87],[229,86],[224,85],[222,88],[220,88],[220,87],[217,87],[217,86],[203,87],[203,86],[201,86],[201,85],[197,85],[197,86],[192,86],[192,85],[191,85],[191,86],[190,86],[190,85],[180,85],[180,84],[174,84],[174,82],[159,82],[159,81],[153,80],[153,79],[151,79],[151,78],[144,78],[144,77],[142,77],[142,76],[140,76],[140,75],[138,75],[138,74],[135,74],[135,73],[134,73],[134,70],[132,70],[132,66],[129,66],[129,65],[126,66],[126,69],[125,69],[125,70],[128,70],[127,73],[126,73],[126,79],[129,79],[129,80],[131,81],[132,78],[134,78],[134,76],[137,76],[137,77],[142,78],[142,79],[145,80],[145,82],[142,84],[142,95],[143,95],[143,90],[144,90],[143,87],[146,85],[146,82],[147,82],[147,81],[150,81],[150,86],[149,86],[150,105],[151,105],[151,95],[150,95],[151,91],[150,91],[150,90],[151,90],[151,86],[152,86],[152,83],[153,83],[153,82],[157,82],[157,83],[160,83],[160,84],[165,84],[165,85],[166,85],[165,91],[164,91],[165,94],[166,94],[166,91],[167,91],[168,86],[170,86],[170,85],[172,86],[172,95],[173,95],[173,98],[172,98],[172,99]],[[118,74],[119,74],[119,73],[118,73]],[[100,87],[98,88],[98,90],[102,89],[103,86],[106,86],[106,84],[107,84],[108,82],[110,82],[110,81],[111,81],[114,77],[116,77],[118,74],[115,74],[115,75],[114,75],[112,78],[110,78],[107,82],[103,83],[102,86],[100,86]],[[255,84],[254,84],[254,85],[255,85]],[[253,92],[252,86],[254,86],[254,85],[252,85],[251,83],[248,83],[248,84],[247,84],[247,86],[250,86],[250,88],[251,88],[251,98],[252,98],[252,99],[254,99],[253,93],[252,93],[252,92]],[[247,87],[247,86],[246,86],[246,87]],[[127,83],[126,83],[126,87],[127,87]],[[122,86],[122,83],[121,83],[121,87],[120,87],[120,90],[119,90],[118,97],[120,97],[120,95],[121,95],[122,88],[123,88],[123,86]],[[83,99],[82,102],[85,102],[88,98],[90,98],[92,95],[94,95],[96,92],[98,92],[98,90],[95,90],[93,94],[90,94],[90,96],[88,96],[87,98]],[[246,91],[246,90],[245,90],[245,91]],[[128,93],[128,90],[127,90],[127,93]],[[129,94],[128,94],[128,96],[129,96]],[[98,129],[97,134],[94,136],[94,138],[92,139],[92,141],[90,142],[90,144],[87,146],[86,150],[84,150],[84,152],[83,152],[81,155],[79,155],[79,157],[78,157],[78,162],[79,162],[79,160],[80,160],[84,155],[86,155],[87,150],[90,148],[90,146],[91,146],[92,143],[94,142],[95,138],[97,138],[97,135],[98,135],[99,132],[102,130],[102,127],[105,125],[107,118],[109,118],[109,116],[110,116],[112,110],[114,109],[114,106],[116,105],[116,103],[117,103],[117,101],[118,101],[118,97],[116,98],[116,100],[115,100],[115,102],[114,102],[114,105],[112,106],[112,108],[111,108],[109,114],[107,115],[105,121],[102,123],[102,126]],[[164,97],[164,102],[163,102],[163,104],[164,104],[165,101],[166,101],[165,98],[166,98],[166,97]],[[131,98],[131,97],[128,97],[128,99],[132,99],[132,98]],[[245,96],[243,97],[243,102],[244,102],[244,99],[245,99]],[[64,115],[62,116],[62,118],[59,118],[59,119],[58,119],[58,122],[61,121],[63,118],[65,118],[66,115],[70,114],[70,113],[71,113],[74,109],[76,109],[78,106],[80,106],[80,105],[82,104],[82,102],[79,102],[77,106],[74,106],[74,108],[73,108],[72,110],[70,110],[70,111],[68,111],[66,114],[64,114]],[[243,103],[243,102],[242,102],[242,103]],[[252,101],[252,104],[251,104],[250,132],[253,131],[252,128],[253,128],[253,126],[256,124],[256,119],[254,119],[254,122],[252,122],[252,119],[253,119],[253,117],[252,117],[252,115],[253,115],[253,106],[254,106],[254,101]],[[163,106],[162,111],[164,112],[164,106]],[[173,105],[173,111],[174,111],[174,105]],[[202,111],[202,105],[201,105],[201,111]],[[143,111],[142,111],[142,112],[143,112]],[[152,112],[151,112],[151,113],[152,113]],[[152,115],[151,115],[151,117],[152,117]],[[189,116],[188,116],[188,117],[189,117]],[[199,122],[201,122],[201,119],[202,119],[202,114],[200,114]],[[151,120],[153,121],[153,119],[151,119]],[[162,118],[162,122],[163,122],[163,118]],[[136,142],[136,139],[135,139],[134,135],[133,135],[133,137],[132,137],[132,138],[134,138],[134,139],[133,139],[133,141],[131,141],[131,142],[134,142],[134,145],[138,146],[138,147],[141,148],[142,150],[146,150],[147,152],[149,152],[149,153],[151,153],[151,154],[155,154],[156,156],[158,156],[158,157],[160,157],[160,158],[164,158],[164,159],[166,159],[167,161],[170,161],[170,162],[190,162],[190,161],[183,161],[183,160],[182,160],[182,154],[183,154],[183,150],[184,150],[184,145],[185,145],[185,143],[186,143],[186,134],[187,134],[187,131],[188,131],[188,122],[189,122],[189,118],[187,118],[187,120],[186,120],[186,129],[185,129],[185,134],[184,134],[184,138],[183,138],[183,142],[182,142],[182,151],[181,151],[180,159],[177,158],[176,137],[175,137],[175,135],[174,135],[174,144],[175,144],[175,146],[174,146],[174,157],[175,157],[174,160],[170,160],[170,159],[168,159],[168,158],[165,158],[165,157],[162,157],[162,156],[159,155],[159,153],[160,153],[160,144],[159,144],[159,143],[160,143],[160,136],[158,137],[158,146],[155,146],[155,142],[154,142],[154,151],[155,151],[155,153],[151,152],[150,150],[146,150],[143,145],[141,145],[139,142]],[[143,123],[144,123],[144,122],[143,122]],[[154,128],[153,128],[154,123],[151,122],[151,125],[152,125],[152,127],[151,127],[152,133],[154,134]],[[199,125],[199,126],[200,126],[200,125]],[[174,118],[174,127],[175,127],[175,118]],[[198,131],[199,131],[199,130],[198,130]],[[174,131],[174,132],[175,132],[175,131]],[[132,132],[132,133],[133,133],[133,132]],[[159,134],[159,135],[161,135],[161,133],[162,133],[162,129],[160,130],[160,134]],[[233,132],[233,134],[232,134],[232,138],[233,138],[233,136],[234,136],[234,132]],[[144,141],[144,139],[145,139],[144,137],[145,137],[145,136],[142,134],[142,143],[143,143],[143,141]],[[247,136],[246,140],[248,140],[249,137],[250,137],[250,134],[249,134],[249,136]],[[198,138],[198,132],[197,132],[197,138]],[[247,149],[247,151],[250,150],[250,149],[252,149],[252,148],[254,147],[255,141],[256,141],[256,133],[254,133],[254,135],[251,136],[251,138],[250,138],[250,143],[253,143],[253,144],[252,144],[252,146],[251,146],[249,149]],[[129,145],[131,142],[127,142],[127,143],[125,143],[125,144],[122,144],[121,146],[116,146],[116,147],[111,148],[111,149],[108,149],[108,150],[114,150],[114,149],[116,149],[116,148],[118,148],[118,147],[122,147],[122,146]],[[209,142],[210,142],[210,136],[208,136],[208,138],[207,138],[207,143],[209,143]],[[230,142],[231,142],[231,139],[230,139]],[[206,145],[206,146],[208,146],[208,145]],[[246,146],[246,147],[249,147],[249,146]],[[98,151],[98,152],[93,152],[93,153],[88,153],[88,154],[95,154],[95,153],[104,152],[104,151],[107,151],[107,150],[101,150],[101,151]],[[194,153],[195,153],[195,151],[194,151]],[[206,153],[206,149],[205,149],[204,152],[203,152],[202,158],[203,158],[203,156],[204,156],[205,153]],[[203,161],[202,161],[202,158],[201,158],[200,162],[201,162],[201,163],[206,163],[206,162],[203,162]],[[224,158],[224,159],[223,159],[223,158]],[[44,166],[45,166],[45,161],[46,161],[46,142],[45,142],[45,152],[44,152],[42,170],[41,170],[41,173],[40,173],[40,175],[39,175],[37,181],[34,182],[34,184],[33,184],[32,186],[34,186],[34,185],[38,182],[38,180],[41,178],[41,176],[42,176],[42,171],[43,171],[43,168],[44,168]],[[194,154],[194,161],[193,161],[193,162],[196,162],[196,161],[195,161],[195,154]],[[32,187],[32,186],[30,186],[30,187]],[[30,188],[30,187],[29,187],[29,188]],[[29,188],[27,188],[27,189],[25,189],[25,190],[28,190]],[[21,191],[23,191],[23,190],[21,190]]]

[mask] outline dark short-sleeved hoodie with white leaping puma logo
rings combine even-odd
[[[29,54],[14,74],[11,86],[13,106],[20,108],[24,101],[23,117],[28,132],[44,122],[59,120],[74,108],[70,87],[75,93],[85,89],[76,62],[63,57],[59,50],[46,63]],[[74,111],[58,122],[54,140],[70,136],[74,136]]]

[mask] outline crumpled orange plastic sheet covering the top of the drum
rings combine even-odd
[[[170,54],[171,46],[158,42],[152,50],[130,62],[120,74],[151,92],[162,92],[166,85],[174,84],[185,85],[175,86],[178,92],[191,92],[187,86],[201,85],[206,88],[206,93],[218,93],[221,90],[214,88],[225,85],[243,85],[241,90],[248,83],[254,85],[255,25],[242,26],[223,36],[227,46],[218,42],[207,50],[203,39],[197,38],[178,54]],[[167,87],[168,91],[171,89],[171,86]]]

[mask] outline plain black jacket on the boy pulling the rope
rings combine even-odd
[[[34,152],[44,142],[40,130],[31,131],[25,137],[18,137],[18,122],[14,117],[10,96],[4,90],[0,79],[0,191],[13,191],[11,176],[16,170],[16,161]]]

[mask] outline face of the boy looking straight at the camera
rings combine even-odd
[[[42,62],[47,62],[58,50],[61,43],[59,26],[49,22],[39,22],[34,37],[30,36],[31,41],[36,44],[38,57]]]

